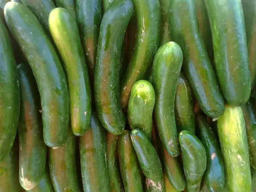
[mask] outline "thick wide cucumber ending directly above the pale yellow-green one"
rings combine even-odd
[[[250,97],[251,83],[241,0],[204,2],[212,31],[216,76],[222,94],[227,104],[244,105]]]

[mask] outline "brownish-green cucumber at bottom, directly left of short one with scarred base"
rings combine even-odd
[[[140,165],[131,143],[131,131],[125,130],[119,137],[118,156],[125,192],[143,192]]]

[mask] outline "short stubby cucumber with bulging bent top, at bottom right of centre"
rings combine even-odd
[[[194,134],[186,130],[180,132],[179,142],[186,178],[186,192],[199,192],[207,166],[204,145]]]

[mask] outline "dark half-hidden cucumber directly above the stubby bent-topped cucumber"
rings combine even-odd
[[[175,120],[178,132],[187,130],[195,133],[193,92],[189,81],[180,73],[175,95]]]

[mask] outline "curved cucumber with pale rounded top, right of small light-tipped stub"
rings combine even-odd
[[[152,69],[152,84],[156,94],[154,118],[157,131],[163,147],[173,157],[180,154],[174,103],[182,61],[180,46],[175,42],[169,42],[157,50]]]

